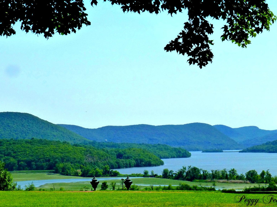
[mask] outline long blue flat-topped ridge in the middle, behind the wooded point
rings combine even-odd
[[[211,125],[191,123],[184,125],[131,125],[104,126],[97,129],[87,129],[75,125],[63,125],[87,139],[115,143],[146,143],[167,144],[182,147],[189,151],[203,149],[242,149],[236,141],[218,131]]]

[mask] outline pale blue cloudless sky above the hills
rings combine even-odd
[[[277,15],[277,1],[266,1]],[[0,112],[24,112],[85,128],[201,122],[277,129],[277,23],[247,48],[214,24],[212,63],[199,69],[165,52],[186,11],[123,13],[85,1],[90,26],[48,40],[20,30],[0,37]]]

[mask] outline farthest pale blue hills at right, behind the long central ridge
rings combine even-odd
[[[262,130],[257,126],[243,126],[231,128],[225,125],[214,125],[223,134],[234,139],[246,147],[266,143],[277,139],[277,130]]]

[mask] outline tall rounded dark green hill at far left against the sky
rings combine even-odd
[[[32,137],[69,143],[89,141],[79,134],[29,113],[0,112],[0,139],[31,139]]]

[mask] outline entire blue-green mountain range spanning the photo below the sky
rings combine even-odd
[[[167,144],[189,151],[204,149],[245,149],[277,139],[277,130],[261,130],[256,126],[231,128],[205,123],[184,125],[104,126],[87,129],[75,125],[55,125],[34,115],[19,112],[0,113],[0,138],[66,141]]]

